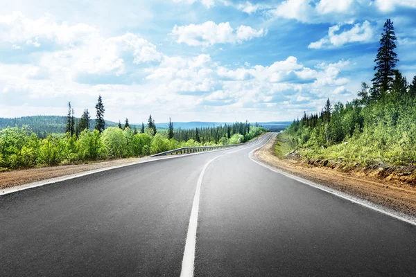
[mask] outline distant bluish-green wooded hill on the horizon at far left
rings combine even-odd
[[[79,120],[79,118],[76,118]],[[109,120],[105,120],[105,127],[114,127],[119,123],[115,123]],[[122,123],[123,124],[123,123]],[[19,118],[0,118],[0,129],[4,129],[8,126],[14,127],[17,125],[28,125],[33,132],[38,136],[44,136],[44,134],[63,134],[67,126],[67,116],[24,116]],[[89,120],[91,129],[95,127],[95,119]],[[134,125],[132,125],[134,127]],[[141,125],[137,125],[137,129],[140,129]]]

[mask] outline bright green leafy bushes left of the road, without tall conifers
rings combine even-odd
[[[85,117],[87,118],[87,116]],[[112,157],[142,157],[157,154],[181,147],[196,147],[202,143],[189,139],[176,141],[168,139],[168,130],[154,134],[153,128],[146,128],[150,134],[135,132],[127,127],[107,127],[102,134],[97,129],[83,129],[78,136],[53,134],[39,139],[29,129],[23,127],[7,127],[0,130],[0,170],[31,168],[33,166],[55,166],[65,163],[96,161]],[[242,143],[263,133],[263,127],[250,127],[245,136],[234,134],[231,139],[226,136],[221,143]],[[203,145],[214,145],[205,142]]]

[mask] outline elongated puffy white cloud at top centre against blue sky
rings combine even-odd
[[[189,24],[186,26],[173,27],[171,35],[175,37],[178,44],[184,43],[189,46],[211,46],[214,44],[243,43],[255,37],[263,37],[267,30],[261,28],[254,30],[250,26],[239,26],[235,30],[229,22],[216,24],[207,21],[203,24]]]

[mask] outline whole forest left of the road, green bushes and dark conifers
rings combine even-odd
[[[42,138],[27,125],[0,130],[0,171],[38,166],[57,166],[85,163],[101,159],[143,157],[181,147],[201,145],[228,145],[249,141],[266,129],[245,123],[205,127],[202,129],[174,129],[169,120],[168,129],[157,129],[150,115],[148,124],[106,126],[101,96],[96,105],[95,126],[85,109],[76,120],[69,103],[65,118],[65,134],[48,134]]]

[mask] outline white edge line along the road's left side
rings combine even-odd
[[[261,137],[259,137],[259,139],[261,139]],[[248,144],[250,144],[250,143],[253,144],[253,141],[250,141]],[[243,146],[243,145],[241,145],[241,146]],[[237,147],[239,148],[241,146],[237,146]],[[37,188],[38,186],[51,185],[51,184],[59,183],[59,182],[62,182],[62,181],[76,179],[76,178],[79,178],[79,177],[92,175],[92,174],[95,174],[95,173],[98,173],[98,172],[103,172],[103,171],[107,171],[107,170],[114,170],[114,169],[117,169],[117,168],[124,168],[125,166],[135,166],[135,165],[140,164],[140,163],[150,163],[152,161],[160,161],[160,160],[165,160],[165,159],[177,159],[177,158],[189,157],[189,156],[198,155],[198,154],[206,154],[206,153],[210,153],[210,152],[225,151],[225,150],[230,150],[230,149],[232,149],[232,148],[225,148],[225,149],[223,148],[223,149],[210,150],[210,151],[204,151],[204,152],[196,152],[196,153],[191,153],[191,154],[174,155],[172,157],[163,157],[163,158],[147,157],[147,158],[144,158],[144,159],[148,159],[148,160],[145,160],[145,161],[125,163],[125,164],[120,165],[120,166],[111,166],[109,168],[100,168],[100,169],[96,169],[96,170],[89,170],[89,171],[86,171],[86,172],[74,173],[74,174],[69,175],[69,176],[67,175],[67,177],[65,177],[65,176],[63,176],[63,177],[54,177],[54,178],[51,178],[51,179],[46,179],[46,180],[42,180],[42,181],[35,181],[33,183],[23,184],[23,185],[20,185],[20,186],[14,186],[14,187],[11,187],[11,188],[3,188],[0,191],[0,196],[8,195],[10,193],[17,193],[18,191],[21,191],[21,190],[28,190],[28,189],[31,189],[31,188]]]

